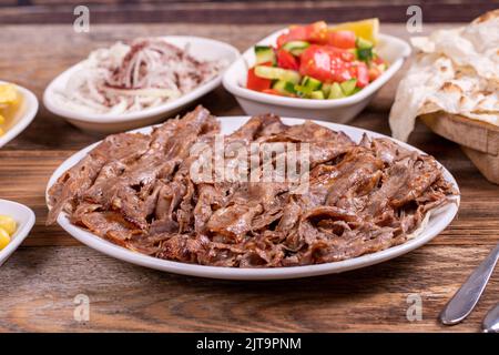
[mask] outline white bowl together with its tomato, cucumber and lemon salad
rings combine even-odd
[[[245,51],[223,84],[249,115],[348,122],[410,54],[407,42],[378,29],[377,19],[282,29]]]

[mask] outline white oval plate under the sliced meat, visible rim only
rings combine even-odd
[[[244,124],[249,118],[248,116],[227,116],[221,118],[220,121],[222,123],[222,133],[228,134]],[[302,124],[305,120],[302,119],[283,119],[286,124]],[[335,131],[344,131],[355,141],[359,141],[364,133],[371,138],[387,138],[386,135],[347,126],[343,124],[335,124],[328,122],[317,121],[316,123],[327,126]],[[135,132],[149,133],[151,131],[151,126],[143,128],[136,130]],[[391,138],[388,138],[393,140]],[[394,140],[395,141],[395,140]],[[401,143],[403,146],[415,150],[422,153],[420,150],[410,146],[406,143]],[[49,184],[47,186],[47,191],[57,179],[68,169],[73,166],[77,162],[79,162],[90,150],[92,150],[96,144],[92,144],[78,153],[73,154],[67,161],[64,161],[52,174],[50,178]],[[452,175],[444,168],[445,179],[452,183],[452,185],[458,190],[458,185]],[[48,193],[45,192],[45,199],[48,201]],[[426,243],[428,243],[431,239],[438,235],[452,221],[455,217],[459,205],[459,197],[457,197],[456,203],[449,203],[445,205],[442,209],[438,211],[438,213],[431,214],[427,226],[424,231],[416,236],[415,239],[408,241],[405,244],[397,245],[385,251],[380,251],[374,254],[367,254],[359,257],[336,262],[336,263],[327,263],[327,264],[318,264],[318,265],[308,265],[308,266],[292,266],[292,267],[274,267],[274,268],[236,268],[236,267],[221,267],[221,266],[203,266],[195,264],[186,264],[172,262],[166,260],[161,260],[143,254],[139,254],[136,252],[132,252],[122,246],[118,246],[111,242],[108,242],[83,229],[72,225],[65,213],[61,213],[58,217],[58,223],[61,225],[68,233],[74,236],[77,240],[86,244],[88,246],[104,253],[106,255],[126,261],[129,263],[156,268],[161,271],[166,271],[171,273],[177,273],[183,275],[193,275],[193,276],[202,276],[202,277],[211,277],[211,278],[225,278],[225,280],[278,280],[278,278],[296,278],[296,277],[305,277],[305,276],[315,276],[315,275],[324,275],[332,273],[340,273],[348,270],[359,268],[369,266],[373,264],[377,264],[396,256],[403,255],[407,252],[410,252]]]

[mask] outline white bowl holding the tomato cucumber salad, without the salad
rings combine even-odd
[[[276,31],[257,44],[274,45],[277,37],[286,29]],[[223,84],[236,97],[244,112],[249,115],[273,112],[282,116],[310,118],[337,123],[346,123],[369,103],[375,93],[400,69],[410,54],[407,42],[393,36],[379,34],[376,47],[379,55],[389,63],[388,70],[358,93],[336,100],[313,100],[285,98],[245,88],[247,68],[255,63],[253,47],[244,52],[225,72]]]

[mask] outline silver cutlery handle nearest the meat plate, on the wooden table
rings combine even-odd
[[[492,274],[498,258],[499,243],[444,307],[440,313],[441,323],[446,325],[458,324],[471,313]]]

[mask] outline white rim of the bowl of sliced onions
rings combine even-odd
[[[195,36],[162,36],[161,38],[165,40],[185,40],[185,41],[202,41],[210,43],[214,47],[214,50],[216,48],[225,48],[228,52],[231,52],[234,55],[234,61],[237,60],[241,57],[240,51],[225,42],[203,38],[203,37],[195,37]],[[120,113],[120,114],[109,114],[109,113],[90,113],[90,112],[77,112],[75,110],[71,110],[61,105],[58,105],[55,102],[53,102],[53,91],[57,87],[58,82],[62,80],[61,78],[65,78],[67,75],[70,75],[71,73],[78,71],[84,60],[74,64],[73,67],[67,69],[62,73],[60,73],[58,77],[55,77],[50,84],[47,87],[45,91],[43,92],[43,104],[44,106],[52,113],[62,116],[68,118],[71,120],[82,121],[82,122],[94,122],[94,123],[120,123],[120,122],[130,122],[134,120],[141,120],[146,119],[151,116],[156,116],[162,113],[166,113],[170,111],[174,111],[181,106],[184,106],[186,104],[190,104],[191,102],[200,99],[201,97],[205,95],[210,91],[216,89],[222,83],[222,78],[227,70],[228,67],[232,65],[232,62],[227,63],[227,68],[222,70],[215,78],[212,80],[203,83],[195,90],[186,93],[185,95],[180,97],[179,99],[175,99],[171,102],[166,102],[163,104],[160,104],[154,108],[144,109],[141,111],[134,111],[129,113]]]

